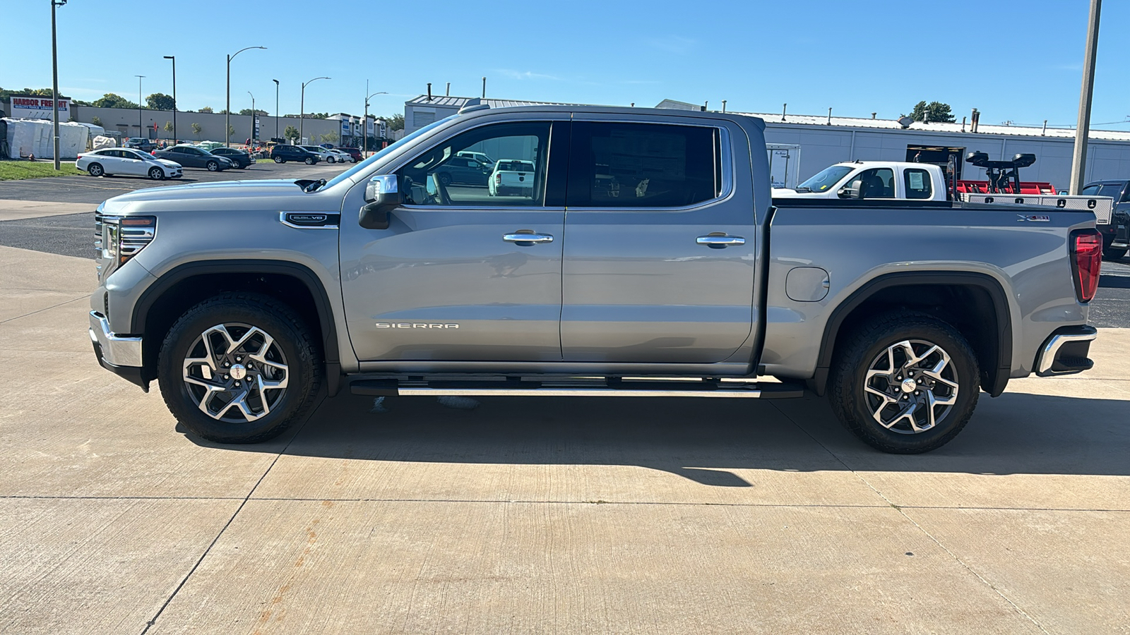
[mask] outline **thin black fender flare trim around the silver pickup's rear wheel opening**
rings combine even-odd
[[[982,369],[982,374],[988,373],[989,376],[989,382],[982,389],[991,397],[998,397],[1005,392],[1005,386],[1008,385],[1008,379],[1012,372],[1012,316],[1008,306],[1008,296],[1000,281],[992,276],[975,271],[898,271],[868,280],[855,289],[847,299],[832,310],[832,314],[824,325],[820,353],[816,359],[816,374],[811,380],[812,389],[817,394],[824,395],[827,390],[836,337],[852,311],[883,289],[910,285],[977,287],[989,294],[997,320],[997,367]]]

